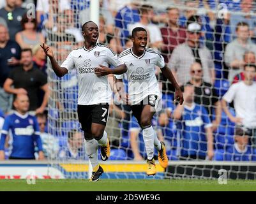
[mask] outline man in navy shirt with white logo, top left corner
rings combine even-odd
[[[16,6],[15,0],[6,0],[6,6],[0,10],[0,17],[6,20],[10,33],[10,40],[15,40],[15,34],[22,31],[20,21],[26,10]]]

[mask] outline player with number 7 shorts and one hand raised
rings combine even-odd
[[[86,153],[93,166],[91,181],[94,182],[103,173],[98,163],[98,144],[101,146],[102,160],[105,161],[110,156],[110,143],[104,129],[109,115],[112,91],[107,76],[99,73],[120,75],[127,68],[110,48],[97,43],[99,29],[94,22],[89,21],[82,25],[82,35],[85,40],[84,46],[72,50],[61,66],[57,64],[52,48],[45,44],[41,47],[49,57],[57,77],[63,77],[73,68],[77,70],[79,82],[77,113],[80,127],[84,131]],[[109,64],[116,68],[108,68]]]

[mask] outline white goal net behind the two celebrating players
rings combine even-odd
[[[91,20],[90,1],[66,0],[67,5],[63,2],[50,1],[49,13],[45,15],[48,20],[43,24],[47,45],[53,47],[59,64],[71,50],[83,45],[81,25]],[[142,6],[145,4],[149,6]],[[256,54],[255,8],[254,3],[250,6],[247,1],[100,1],[99,43],[120,54],[132,46],[130,35],[133,27],[146,27],[148,47],[162,53],[167,66],[176,72],[180,85],[192,78],[193,82],[200,82],[200,78],[207,82],[195,85],[195,103],[185,105],[183,112],[178,114],[174,87],[156,67],[156,78],[162,91],[162,110],[156,113],[152,124],[158,138],[165,142],[169,157],[169,168],[163,170],[157,162],[157,150],[154,150],[156,178],[213,179],[218,177],[218,170],[222,168],[233,175],[231,178],[255,177],[253,140],[245,136],[246,131],[242,134],[244,136],[235,134],[236,124],[218,109],[233,78],[243,80],[245,77],[243,64],[255,63],[255,56],[250,55],[250,59],[244,56],[248,51]],[[189,25],[188,19],[192,19]],[[175,22],[177,26],[174,26]],[[237,31],[239,23],[241,29],[248,29],[248,32]],[[246,32],[250,35],[246,48],[236,43],[230,45],[238,37],[246,38]],[[192,44],[195,43],[191,35],[198,38],[199,47],[186,44],[188,38]],[[239,50],[232,50],[232,46],[239,47]],[[238,66],[232,68],[232,63]],[[214,77],[211,77],[213,73]],[[64,171],[66,177],[84,179],[89,165],[77,118],[77,73],[74,69],[58,78],[48,61],[48,80],[48,131],[59,143],[57,154],[48,152],[48,159]],[[113,80],[109,76],[111,85]],[[127,89],[125,83],[126,80],[124,87]],[[188,87],[184,86],[184,92]],[[234,105],[230,103],[228,106],[230,113],[235,115]],[[219,123],[215,128],[216,121]],[[105,171],[103,178],[146,178],[142,130],[132,117],[129,106],[119,100],[115,90],[106,131],[111,142],[111,155],[105,163],[99,157]]]

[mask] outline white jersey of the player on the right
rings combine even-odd
[[[149,94],[161,96],[154,67],[163,68],[165,61],[163,56],[156,50],[146,48],[144,54],[137,57],[132,52],[132,48],[124,50],[118,57],[127,66],[128,96],[129,103],[135,105],[140,103]],[[123,75],[115,75],[117,79],[122,79]]]

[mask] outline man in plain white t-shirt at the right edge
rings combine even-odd
[[[256,82],[253,81],[256,74],[255,64],[244,66],[245,80],[232,84],[222,98],[222,107],[232,122],[236,126],[246,128],[250,132],[251,142],[256,145]],[[236,117],[234,117],[227,107],[227,103],[234,101]]]

